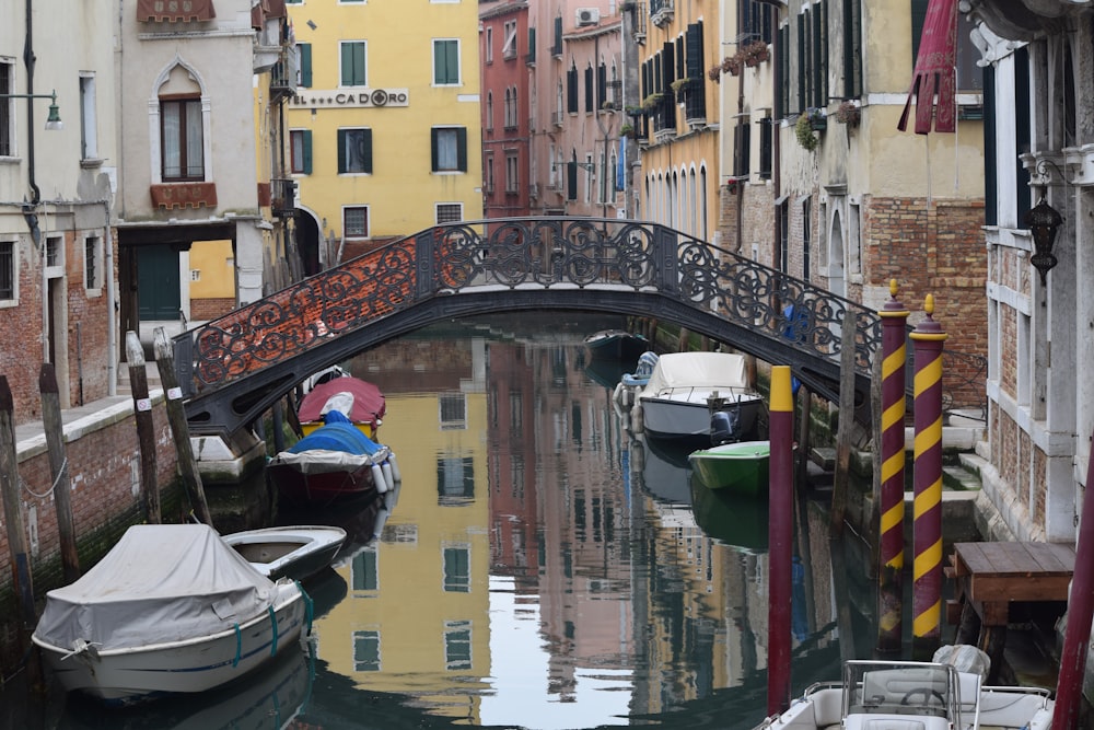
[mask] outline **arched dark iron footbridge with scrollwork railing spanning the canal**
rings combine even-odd
[[[190,432],[228,438],[313,372],[433,322],[520,310],[674,322],[835,403],[851,322],[854,417],[871,420],[877,312],[664,225],[550,217],[437,225],[176,336]]]

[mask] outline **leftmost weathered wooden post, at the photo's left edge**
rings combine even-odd
[[[26,530],[23,526],[22,501],[19,498],[19,463],[15,454],[14,399],[8,378],[0,375],[0,493],[3,495],[3,522],[11,552],[12,581],[19,611],[20,652],[30,649],[34,630],[34,583],[27,554]]]

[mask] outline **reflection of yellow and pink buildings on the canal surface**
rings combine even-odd
[[[337,568],[347,594],[316,622],[318,657],[472,725],[627,725],[733,688],[758,721],[766,506],[694,499],[686,455],[635,441],[585,372],[586,331],[451,329],[350,363],[387,396],[403,487],[380,540]],[[811,523],[795,662],[818,659],[795,663],[795,690],[838,663],[826,523],[803,510]]]

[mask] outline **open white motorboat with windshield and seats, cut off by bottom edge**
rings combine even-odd
[[[976,647],[943,647],[939,653]],[[934,659],[939,659],[935,653]],[[1040,687],[984,686],[982,671],[948,662],[843,662],[841,683],[821,683],[756,730],[1050,730],[1054,700]]]

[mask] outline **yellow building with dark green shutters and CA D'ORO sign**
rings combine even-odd
[[[305,274],[482,216],[478,3],[289,4],[289,169]]]

